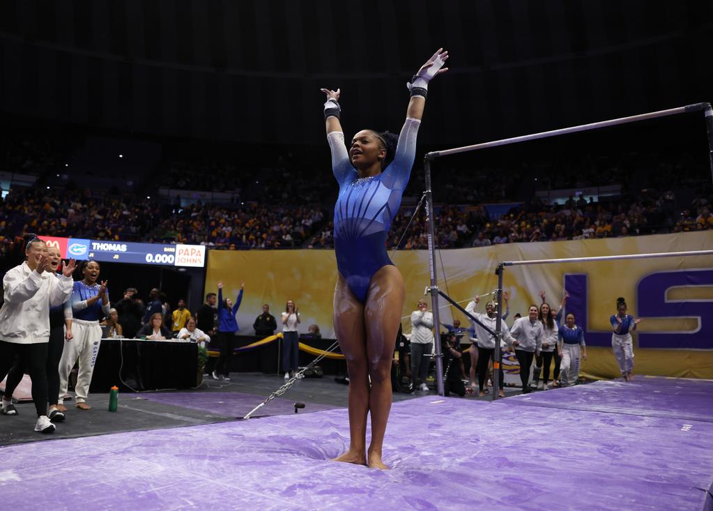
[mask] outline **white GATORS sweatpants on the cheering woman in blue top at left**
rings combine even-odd
[[[99,353],[101,344],[101,326],[99,321],[72,320],[72,334],[74,337],[64,343],[64,351],[59,361],[59,401],[67,393],[69,373],[79,360],[79,373],[77,384],[74,386],[76,402],[83,403],[87,400],[91,375],[94,372],[94,363]]]

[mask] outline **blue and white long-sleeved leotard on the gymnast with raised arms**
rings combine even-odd
[[[394,161],[373,177],[359,178],[349,160],[344,133],[333,131],[327,135],[332,170],[339,182],[339,197],[334,205],[337,269],[361,303],[366,301],[371,277],[386,264],[394,264],[386,253],[386,236],[409,182],[419,125],[420,120],[406,118]]]

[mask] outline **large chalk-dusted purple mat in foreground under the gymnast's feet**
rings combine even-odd
[[[31,495],[86,510],[710,505],[711,422],[428,396],[394,405],[384,451],[391,470],[329,461],[348,442],[347,411],[337,409],[11,445],[0,449],[0,488],[4,507],[33,510]],[[78,470],[91,477],[72,484]]]

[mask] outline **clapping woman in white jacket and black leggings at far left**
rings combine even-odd
[[[0,379],[10,370],[15,357],[28,368],[32,381],[32,401],[37,411],[35,430],[52,433],[55,426],[47,417],[47,343],[49,308],[63,304],[72,292],[71,274],[76,267],[70,259],[56,278],[50,270],[47,245],[31,239],[25,250],[27,260],[10,269],[3,278],[5,302],[0,309]],[[11,397],[3,398],[3,410]]]

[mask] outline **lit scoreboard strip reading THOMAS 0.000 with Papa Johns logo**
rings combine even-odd
[[[40,236],[48,246],[57,247],[64,259],[94,259],[98,262],[158,264],[160,266],[205,266],[202,245],[114,242],[99,239]]]

